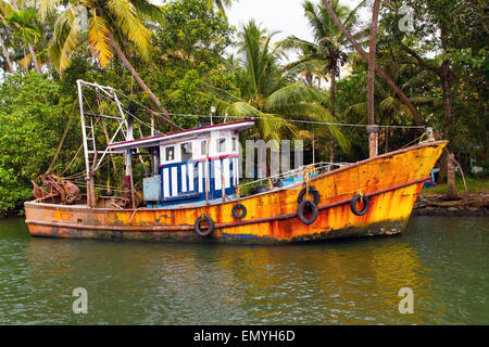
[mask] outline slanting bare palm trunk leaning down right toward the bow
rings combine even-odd
[[[333,11],[331,5],[328,1],[322,0],[324,7],[326,8],[326,11],[328,12],[329,16],[331,17],[333,22],[335,22],[336,26],[343,33],[343,35],[347,37],[347,39],[351,42],[351,44],[355,48],[355,50],[359,52],[360,55],[366,61],[368,61],[368,54],[363,50],[363,48],[359,44],[359,42],[355,40],[355,38],[347,30],[347,28],[339,22],[338,16],[336,15],[335,11]],[[399,95],[399,99],[410,108],[411,114],[413,115],[414,121],[417,125],[423,125],[424,121],[419,117],[419,114],[416,111],[416,107],[412,104],[412,102],[408,99],[408,97],[403,93],[403,91],[396,85],[396,82],[389,77],[389,75],[381,69],[377,64],[375,64],[375,70],[377,74],[396,91],[396,93]]]

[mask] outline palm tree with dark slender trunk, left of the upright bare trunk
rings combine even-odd
[[[355,9],[350,10],[341,5],[338,0],[330,1],[331,8],[343,25],[351,29],[356,23],[356,12],[364,5],[362,1]],[[298,49],[301,51],[299,61],[289,64],[292,70],[305,72],[306,80],[311,83],[312,76],[329,77],[330,81],[330,106],[333,117],[336,117],[336,78],[339,77],[340,65],[348,61],[348,39],[338,29],[325,8],[305,1],[303,4],[305,16],[314,34],[314,42],[310,42],[294,36],[288,37],[280,44],[286,49]],[[335,159],[335,141],[330,143],[330,162]]]

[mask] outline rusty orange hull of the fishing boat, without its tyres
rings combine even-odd
[[[179,240],[200,242],[301,242],[400,233],[423,183],[429,179],[446,141],[428,142],[343,166],[311,179],[319,192],[317,219],[298,219],[298,195],[304,183],[243,197],[242,219],[233,216],[237,202],[166,209],[88,208],[40,202],[25,203],[26,223],[35,236],[73,239]],[[350,202],[358,191],[369,209],[354,215]],[[206,214],[215,223],[208,237],[193,229]]]

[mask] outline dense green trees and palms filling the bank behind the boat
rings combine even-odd
[[[66,7],[57,8],[61,2]],[[316,162],[329,160],[335,141],[339,144],[337,162],[366,157],[367,133],[362,125],[367,123],[367,63],[330,21],[322,1],[304,1],[314,40],[291,36],[279,44],[266,24],[256,25],[252,18],[243,28],[233,27],[224,12],[233,2],[174,0],[154,7],[146,0],[97,4],[1,0],[0,215],[30,198],[30,180],[45,174],[50,164],[51,172],[63,176],[84,170],[82,156],[75,156],[82,143],[77,79],[113,86],[149,108],[164,108],[177,127],[209,121],[203,116],[177,114],[209,115],[215,106],[216,116],[228,116],[228,120],[259,117],[249,137],[302,138],[309,152],[314,139]],[[329,2],[367,50],[368,23],[358,21],[358,9]],[[89,10],[85,31],[78,26],[78,3]],[[364,3],[368,2],[356,1]],[[413,10],[412,30],[400,29],[402,4]],[[377,64],[415,106],[423,123],[434,126],[439,138],[450,140],[450,151],[465,174],[471,159],[486,172],[488,168],[487,11],[487,3],[479,0],[381,1]],[[117,16],[112,18],[110,13]],[[100,18],[105,26],[96,26]],[[139,34],[130,23],[140,26]],[[284,59],[290,50],[298,54],[294,62]],[[88,99],[91,107],[111,112],[95,95]],[[138,116],[149,123],[150,115],[142,111],[138,110]],[[381,126],[415,125],[410,108],[379,76],[375,117]],[[312,126],[291,119],[359,127]],[[175,126],[160,116],[156,128],[171,131]],[[148,129],[141,130],[147,133]],[[383,128],[379,153],[399,149],[422,133],[421,129]],[[110,165],[104,170],[109,175],[104,171],[99,184],[123,184],[122,174]],[[139,175],[141,168],[136,167]]]

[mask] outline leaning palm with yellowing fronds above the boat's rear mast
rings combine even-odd
[[[50,42],[50,57],[54,67],[62,74],[70,65],[73,52],[84,42],[98,62],[106,67],[115,56],[130,72],[141,89],[148,92],[151,101],[163,113],[167,111],[145,83],[127,59],[127,41],[143,59],[149,60],[151,30],[143,21],[163,22],[159,7],[148,0],[41,0],[40,12],[55,11],[60,3],[66,4],[55,25]],[[84,22],[86,21],[85,25]],[[85,26],[85,27],[84,27]]]

